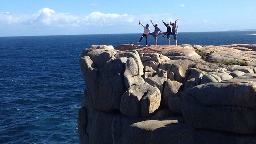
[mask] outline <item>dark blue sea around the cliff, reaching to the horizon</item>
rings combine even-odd
[[[0,144],[78,144],[77,116],[86,89],[82,50],[136,44],[141,35],[0,37]],[[177,39],[178,44],[254,44],[256,31],[181,32]],[[167,43],[158,37],[158,45]],[[148,45],[154,44],[148,37]]]

